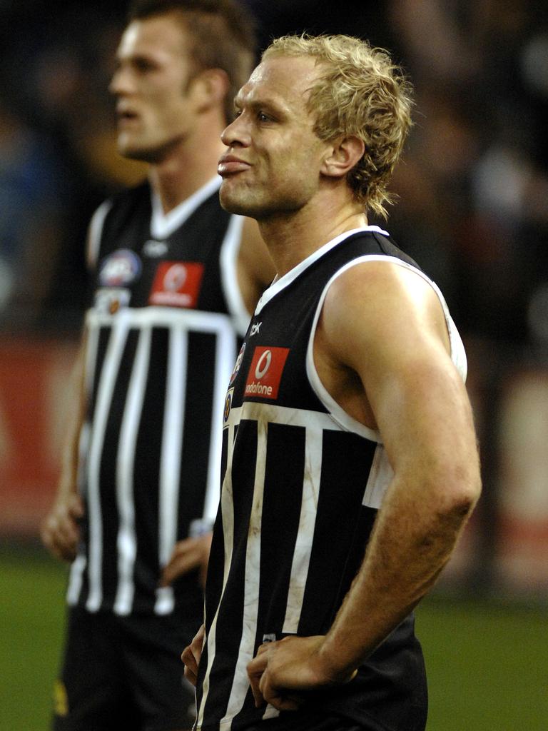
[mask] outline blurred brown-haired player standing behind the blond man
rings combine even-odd
[[[148,181],[96,211],[80,404],[42,539],[72,561],[58,730],[175,731],[180,651],[202,621],[224,389],[273,273],[218,203],[221,132],[254,61],[235,0],[137,0],[111,91]]]

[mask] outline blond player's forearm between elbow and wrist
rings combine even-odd
[[[474,501],[436,504],[425,491],[392,484],[362,567],[321,648],[347,677],[433,586],[451,556]]]

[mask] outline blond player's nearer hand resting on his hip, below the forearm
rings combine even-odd
[[[299,691],[346,683],[356,674],[328,667],[320,650],[324,636],[284,637],[265,643],[248,664],[248,677],[255,705],[265,702],[279,711],[294,711],[302,705]]]

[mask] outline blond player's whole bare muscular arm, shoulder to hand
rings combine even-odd
[[[376,429],[394,477],[362,567],[325,637],[270,643],[249,664],[256,702],[348,681],[448,561],[479,496],[471,408],[438,298],[416,273],[357,265],[330,288],[315,341],[322,382]]]

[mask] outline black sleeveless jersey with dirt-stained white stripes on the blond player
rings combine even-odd
[[[330,398],[312,357],[328,287],[349,266],[370,260],[411,268],[434,287],[454,363],[465,375],[462,341],[441,292],[378,227],[332,240],[264,293],[224,408],[224,480],[197,687],[202,731],[235,731],[278,715],[276,728],[300,728],[307,708],[379,731],[424,728],[424,665],[413,616],[353,681],[307,694],[298,716],[255,708],[246,673],[261,643],[330,628],[393,474],[378,433]]]

